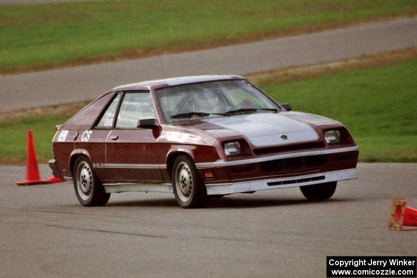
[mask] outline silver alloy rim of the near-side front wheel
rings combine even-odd
[[[187,163],[182,161],[175,170],[175,188],[181,202],[189,202],[193,191],[193,177]]]

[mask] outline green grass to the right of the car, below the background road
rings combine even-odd
[[[295,111],[340,121],[361,161],[417,162],[417,60],[277,84],[265,91]]]

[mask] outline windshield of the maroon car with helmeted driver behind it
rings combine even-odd
[[[168,87],[156,90],[156,95],[169,123],[279,110],[273,101],[246,80]]]

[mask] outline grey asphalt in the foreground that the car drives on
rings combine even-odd
[[[71,184],[15,186],[24,175],[0,167],[1,277],[325,277],[326,255],[416,255],[417,228],[386,225],[391,198],[417,207],[417,164],[359,164],[326,202],[292,188],[194,210],[156,193],[85,208]]]

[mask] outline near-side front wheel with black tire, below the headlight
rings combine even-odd
[[[172,167],[172,187],[175,199],[183,208],[204,207],[209,202],[206,186],[195,169],[193,161],[180,155]]]

